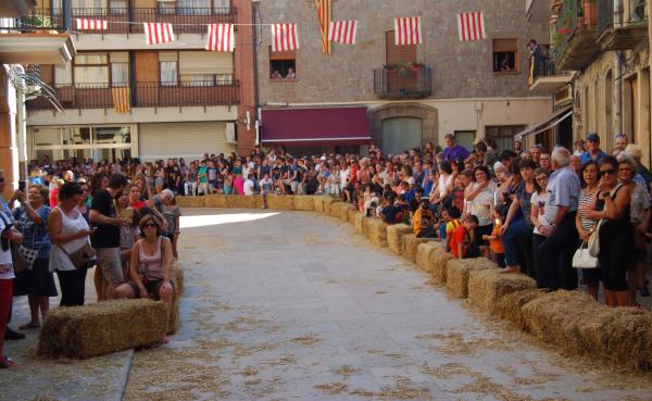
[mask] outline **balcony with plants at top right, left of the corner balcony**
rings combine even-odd
[[[553,43],[555,67],[560,71],[586,68],[600,53],[598,3],[592,0],[553,0],[556,16]]]

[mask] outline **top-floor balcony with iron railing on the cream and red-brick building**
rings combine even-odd
[[[175,24],[175,34],[205,34],[205,24],[235,23],[236,8],[179,8],[174,2],[160,3],[158,8],[74,8],[73,18],[104,20],[109,22],[106,30],[89,30],[89,34],[142,34],[141,23]],[[171,4],[173,7],[162,7]],[[50,17],[57,24],[62,23],[61,9],[53,9]],[[128,22],[136,22],[129,24]]]

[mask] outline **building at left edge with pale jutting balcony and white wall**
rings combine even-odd
[[[27,177],[25,102],[42,96],[37,65],[64,65],[75,55],[66,27],[27,18],[35,5],[35,0],[0,1],[0,168],[8,181],[5,197]]]

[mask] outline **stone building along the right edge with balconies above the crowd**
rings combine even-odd
[[[547,68],[531,79],[531,88],[548,90],[559,126],[538,127],[551,140],[574,140],[597,131],[611,151],[614,136],[624,134],[643,150],[650,166],[650,26],[647,0],[532,0],[549,7],[552,51]],[[569,113],[569,114],[568,114]],[[560,128],[561,127],[561,128]]]

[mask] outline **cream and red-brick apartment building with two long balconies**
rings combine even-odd
[[[28,103],[33,158],[197,159],[248,153],[254,146],[252,29],[238,26],[235,52],[206,51],[208,24],[250,23],[244,0],[38,0],[59,23],[63,2],[76,18],[106,29],[74,29],[78,51],[42,67],[61,103]],[[146,22],[173,24],[176,40],[147,45]],[[76,28],[76,26],[74,26]]]

